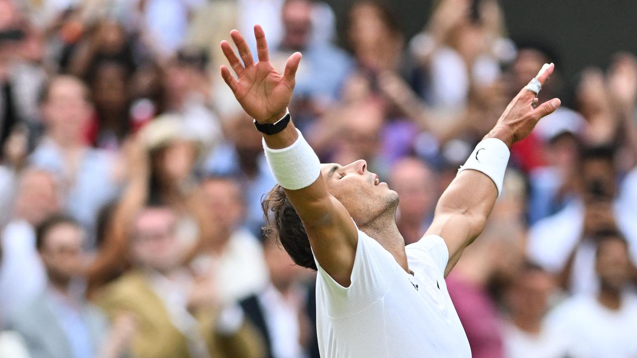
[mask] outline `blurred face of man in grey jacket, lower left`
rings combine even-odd
[[[57,224],[48,231],[40,255],[52,282],[66,283],[83,271],[83,243],[84,233],[75,224]]]

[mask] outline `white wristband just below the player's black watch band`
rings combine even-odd
[[[320,162],[303,134],[298,129],[297,138],[290,147],[271,149],[263,140],[266,159],[276,182],[285,189],[297,190],[308,187],[320,174]]]

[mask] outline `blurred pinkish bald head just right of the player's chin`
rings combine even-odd
[[[427,166],[417,159],[403,159],[392,168],[392,189],[401,197],[401,218],[422,221],[436,201],[436,182]]]

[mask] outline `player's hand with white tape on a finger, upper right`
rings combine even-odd
[[[547,82],[553,73],[554,64],[550,64],[546,71],[538,73],[536,77],[541,85]],[[505,142],[509,147],[533,131],[540,118],[550,115],[560,106],[559,98],[551,99],[538,104],[536,94],[530,90],[522,89],[519,94],[506,106],[506,110],[497,120],[496,126],[485,138],[497,138]]]

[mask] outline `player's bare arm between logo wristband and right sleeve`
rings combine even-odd
[[[496,198],[496,185],[489,176],[475,170],[459,173],[440,197],[426,235],[438,235],[447,244],[449,261],[445,276],[454,268],[464,248],[482,233]]]

